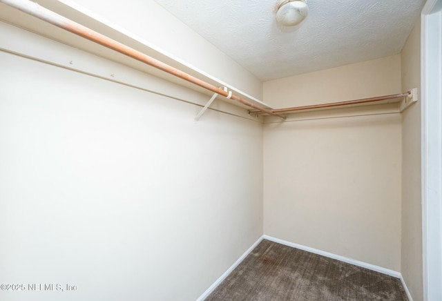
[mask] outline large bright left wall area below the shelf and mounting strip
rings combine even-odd
[[[1,300],[195,300],[262,235],[260,123],[0,64]]]

